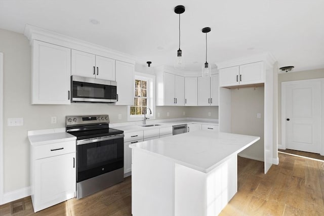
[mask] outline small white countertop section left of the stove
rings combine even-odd
[[[76,137],[65,132],[49,133],[49,134],[36,134],[28,135],[28,139],[31,145],[39,146],[50,143],[66,142],[76,140]]]

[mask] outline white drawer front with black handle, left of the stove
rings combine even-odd
[[[35,159],[53,157],[57,155],[75,152],[75,141],[53,143],[42,146],[35,146]]]

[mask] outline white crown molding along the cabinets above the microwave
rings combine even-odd
[[[74,37],[59,34],[53,31],[42,29],[36,26],[26,24],[24,35],[29,39],[29,44],[32,45],[33,40],[41,40],[50,44],[59,45],[62,47],[79,50],[87,53],[92,53],[98,56],[103,56],[118,61],[124,61],[135,64],[135,56],[112,50],[103,46],[92,44],[84,40]]]

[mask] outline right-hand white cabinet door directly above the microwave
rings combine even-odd
[[[96,78],[115,81],[115,60],[96,56]]]

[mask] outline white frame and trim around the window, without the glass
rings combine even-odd
[[[146,92],[146,98],[147,98],[147,104],[146,107],[150,108],[152,111],[152,114],[146,115],[150,119],[155,119],[155,75],[147,74],[147,73],[134,73],[134,81],[133,81],[133,91],[134,91],[134,99],[135,99],[135,80],[145,80],[147,81],[147,92]],[[133,105],[135,106],[135,104]],[[127,121],[141,121],[144,118],[144,115],[131,115],[131,107],[127,106]]]

